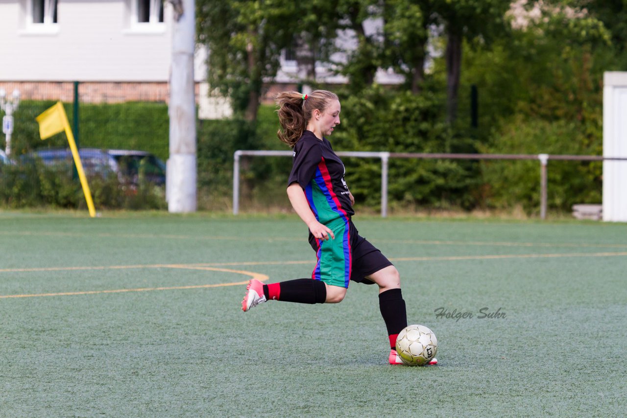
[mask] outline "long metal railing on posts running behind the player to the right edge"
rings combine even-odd
[[[551,154],[427,154],[413,152],[336,152],[340,157],[381,159],[381,217],[387,216],[387,182],[389,159],[461,159],[461,160],[538,160],[540,162],[540,218],[547,214],[547,164],[549,160],[568,161],[624,161],[627,157],[601,155]],[[237,150],[233,154],[233,214],[240,211],[240,159],[251,157],[292,157],[292,151]]]

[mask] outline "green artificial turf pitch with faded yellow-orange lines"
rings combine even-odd
[[[355,221],[437,366],[387,364],[374,286],[241,311],[310,275],[296,217],[0,212],[0,416],[627,415],[627,225]]]

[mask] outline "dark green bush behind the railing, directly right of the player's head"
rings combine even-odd
[[[342,127],[330,138],[335,150],[389,152],[474,152],[472,139],[453,135],[441,120],[442,102],[428,91],[386,90],[374,86],[361,95],[340,98]],[[345,159],[347,183],[360,202],[378,207],[381,164]],[[377,180],[374,180],[377,179]],[[390,201],[401,206],[476,206],[470,192],[478,185],[478,164],[457,160],[393,159],[389,164]]]

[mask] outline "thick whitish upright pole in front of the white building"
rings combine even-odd
[[[174,3],[170,75],[169,212],[196,211],[196,99],[194,97],[194,0]]]

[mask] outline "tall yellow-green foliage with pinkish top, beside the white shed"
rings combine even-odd
[[[463,78],[477,83],[487,98],[483,126],[490,129],[480,152],[601,154],[602,80],[609,51],[603,24],[564,2],[519,9],[513,23],[510,38],[465,55]],[[574,203],[599,201],[601,163],[550,164],[550,207],[567,211]],[[482,173],[488,206],[524,202],[525,210],[535,211],[538,171],[533,165],[483,162]]]

